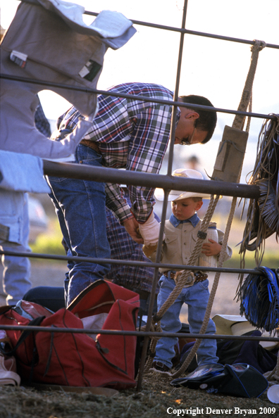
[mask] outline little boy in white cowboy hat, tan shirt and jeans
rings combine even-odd
[[[202,179],[201,173],[196,170],[178,169],[173,175],[190,177],[193,179]],[[155,196],[159,200],[163,200],[163,194],[156,193]],[[161,262],[164,264],[187,265],[187,261],[194,249],[197,241],[197,233],[200,229],[202,221],[197,216],[197,211],[202,208],[202,198],[210,198],[208,194],[171,191],[168,200],[172,201],[172,215],[165,224],[165,237],[161,250]],[[209,228],[215,228],[215,222],[209,224]],[[223,232],[216,229],[218,233],[218,241],[209,239],[208,243],[202,246],[202,253],[207,257],[214,256],[218,258],[221,251],[221,241],[223,240]],[[217,234],[216,234],[217,236]],[[156,246],[144,246],[143,251],[152,261],[156,258]],[[228,260],[232,255],[232,250],[227,246]],[[197,262],[199,265],[199,262]],[[157,299],[158,310],[167,300],[170,293],[175,288],[175,270],[159,269],[162,277],[159,280],[159,295]],[[190,332],[199,334],[204,320],[206,306],[209,300],[209,281],[207,275],[201,279],[196,279],[190,287],[182,289],[180,296],[175,300],[161,319],[161,328],[163,331],[177,332],[181,329],[180,310],[183,303],[188,305],[188,322],[190,324]],[[206,329],[206,334],[215,334],[216,327],[212,319]],[[175,344],[178,338],[160,338],[156,345],[156,356],[152,367],[159,372],[168,372],[172,367],[171,360],[175,356]],[[216,340],[204,339],[197,350],[197,364],[204,365],[206,363],[216,363]]]

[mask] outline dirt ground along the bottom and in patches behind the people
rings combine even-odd
[[[64,262],[32,261],[32,286],[62,286]],[[1,272],[0,272],[1,274]],[[210,288],[213,274],[209,275]],[[216,313],[238,315],[234,296],[237,275],[221,275],[211,317]],[[1,296],[0,303],[4,304]],[[187,309],[181,313],[187,322]],[[112,397],[34,388],[0,387],[0,418],[153,418],[153,417],[279,417],[279,406],[263,393],[259,398],[235,398],[189,388],[173,388],[171,378],[144,374],[142,388],[118,391]]]

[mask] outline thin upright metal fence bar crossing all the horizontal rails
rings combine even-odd
[[[182,29],[185,29],[187,3],[188,3],[188,0],[185,0],[183,14],[182,14]],[[175,82],[175,92],[173,96],[174,101],[178,101],[178,89],[179,89],[179,83],[180,83],[183,41],[184,41],[184,33],[181,32],[180,47],[179,47],[179,53],[178,53],[178,69],[177,69],[176,82]],[[170,148],[169,148],[169,153],[168,153],[168,175],[169,176],[171,176],[172,165],[173,165],[173,146],[174,146],[174,141],[175,141],[176,110],[177,110],[177,106],[173,106],[173,112],[171,115],[171,134],[170,134],[171,139],[170,139]],[[168,205],[169,192],[170,190],[165,190],[165,194],[163,198],[163,210],[162,210],[162,215],[161,215],[161,228],[160,228],[158,248],[157,248],[157,253],[156,253],[156,262],[160,262],[161,260],[161,246],[163,243],[163,229],[165,227],[165,221],[166,221],[166,210],[167,210],[167,205]],[[155,295],[156,295],[158,272],[159,272],[159,268],[156,267],[154,270],[153,283],[152,283],[152,289],[151,289],[150,300],[149,300],[147,325],[145,327],[147,332],[150,331],[150,327],[151,327],[152,311],[153,311],[154,300],[155,300]],[[144,342],[142,346],[142,355],[141,355],[141,361],[140,361],[140,369],[139,369],[139,374],[137,378],[137,391],[140,391],[142,388],[142,377],[143,377],[143,372],[144,372],[145,359],[147,357],[148,342],[149,342],[149,337],[148,336],[144,337]]]

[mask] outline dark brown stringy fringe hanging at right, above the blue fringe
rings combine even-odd
[[[248,184],[260,189],[259,200],[250,199],[247,223],[240,246],[240,267],[245,267],[246,251],[255,251],[256,267],[261,265],[265,239],[272,234],[279,236],[279,115],[265,120],[257,145],[257,156]],[[244,205],[246,199],[244,199]],[[242,211],[243,212],[243,211]],[[254,239],[253,242],[251,242]],[[240,276],[240,285],[243,276]]]

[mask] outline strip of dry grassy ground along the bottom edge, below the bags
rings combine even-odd
[[[173,408],[168,410],[168,408]],[[192,408],[192,411],[191,411]],[[199,410],[197,410],[199,408]],[[206,408],[211,408],[207,409]],[[279,407],[266,394],[259,398],[234,398],[201,390],[173,388],[170,379],[154,372],[144,375],[142,390],[119,391],[113,397],[92,393],[35,391],[32,388],[0,388],[0,418],[154,418],[178,416],[173,410],[188,410],[184,417],[243,417],[235,408],[251,410],[254,417],[278,417]],[[261,408],[274,413],[261,414]],[[225,410],[231,410],[225,413]],[[213,412],[220,410],[220,413]],[[223,412],[221,411],[223,410]],[[180,414],[182,416],[182,414]],[[251,414],[246,415],[251,416]]]

